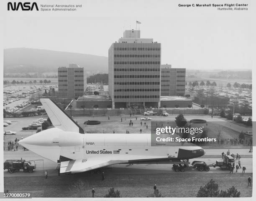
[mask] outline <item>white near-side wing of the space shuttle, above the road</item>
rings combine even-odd
[[[109,165],[127,162],[128,161],[125,160],[108,160],[107,158],[103,159],[102,157],[64,161],[61,162],[60,173],[79,173]]]

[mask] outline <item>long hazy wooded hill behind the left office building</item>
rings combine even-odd
[[[88,74],[108,73],[108,57],[32,48],[4,49],[4,73],[57,72],[58,67],[77,63]]]

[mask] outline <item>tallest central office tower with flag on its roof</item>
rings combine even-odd
[[[113,108],[160,107],[161,44],[125,30],[108,50],[108,83]]]

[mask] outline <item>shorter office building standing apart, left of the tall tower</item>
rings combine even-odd
[[[84,68],[72,63],[69,68],[58,68],[59,95],[66,98],[79,97],[84,94],[87,86],[86,72]]]

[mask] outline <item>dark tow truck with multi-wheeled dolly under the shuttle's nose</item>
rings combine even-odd
[[[234,168],[235,162],[232,156],[224,155],[222,159],[217,160],[216,163],[206,164],[204,161],[193,161],[192,164],[189,162],[173,164],[172,168],[175,172],[184,172],[185,169],[197,169],[198,171],[209,171],[210,167],[220,167],[221,169],[231,170]]]

